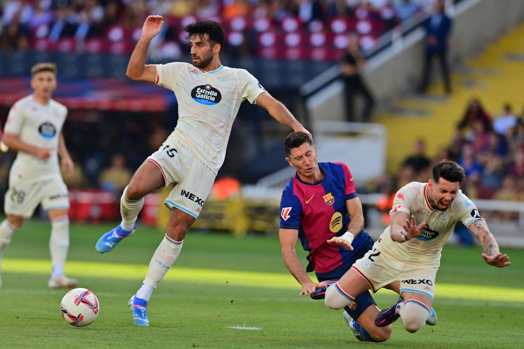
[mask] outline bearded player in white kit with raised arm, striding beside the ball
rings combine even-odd
[[[171,210],[166,236],[151,258],[143,285],[129,300],[134,311],[133,322],[140,326],[149,325],[146,307],[152,291],[180,254],[185,234],[199,216],[216,173],[224,162],[227,140],[240,104],[247,99],[249,103],[266,109],[283,125],[310,134],[253,75],[244,69],[220,63],[219,53],[225,35],[217,22],[206,20],[185,27],[193,64],[146,65],[147,48],[162,24],[162,16],[147,17],[126,75],[174,92],[178,102],[177,127],[162,147],[138,168],[124,190],[122,223],[96,243],[98,252],[111,251],[119,241],[135,231],[144,196],[176,183],[165,201]]]

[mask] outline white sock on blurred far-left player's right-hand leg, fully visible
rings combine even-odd
[[[49,252],[53,271],[51,278],[63,275],[64,264],[69,251],[69,217],[63,216],[51,222],[51,237],[49,239]]]

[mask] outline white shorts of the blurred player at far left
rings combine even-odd
[[[46,211],[69,208],[69,191],[60,174],[42,182],[9,181],[4,211],[9,215],[29,218],[38,204]]]

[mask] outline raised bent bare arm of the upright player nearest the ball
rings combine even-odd
[[[136,44],[129,64],[126,76],[135,81],[143,81],[154,84],[157,78],[157,67],[155,64],[146,65],[147,48],[152,38],[157,36],[162,28],[162,16],[148,16],[142,27],[142,36]]]

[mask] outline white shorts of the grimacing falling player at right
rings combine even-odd
[[[417,292],[433,300],[438,266],[401,262],[384,251],[378,242],[352,268],[368,282],[373,291],[398,281],[400,292]]]

